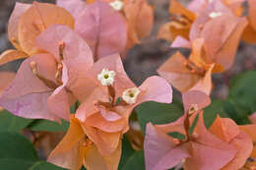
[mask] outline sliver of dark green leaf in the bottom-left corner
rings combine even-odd
[[[33,162],[23,159],[3,158],[0,159],[0,168],[4,170],[28,170]]]

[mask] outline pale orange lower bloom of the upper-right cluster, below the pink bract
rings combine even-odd
[[[202,56],[203,39],[192,44],[189,59],[177,52],[160,66],[158,73],[179,91],[202,90],[207,94],[212,90],[212,71],[215,64],[206,64]]]

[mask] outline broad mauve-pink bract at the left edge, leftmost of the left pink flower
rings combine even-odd
[[[43,84],[32,73],[31,62],[36,63],[37,72],[55,83],[56,63],[48,54],[38,54],[24,61],[12,85],[5,89],[0,105],[17,116],[56,120],[56,115],[47,108],[47,98],[53,88]]]

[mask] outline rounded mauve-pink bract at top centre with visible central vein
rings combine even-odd
[[[76,18],[78,32],[91,46],[95,60],[121,53],[127,41],[124,18],[101,0],[88,5]]]

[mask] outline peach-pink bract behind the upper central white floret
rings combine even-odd
[[[111,55],[98,60],[85,75],[79,75],[77,85],[72,86],[71,88],[79,100],[84,101],[91,96],[91,103],[96,100],[108,101],[107,87],[101,85],[97,80],[97,75],[100,74],[103,69],[114,71],[116,74],[113,83],[116,96],[115,99],[121,96],[122,92],[127,88],[136,86],[126,75],[120,56],[117,54]]]

